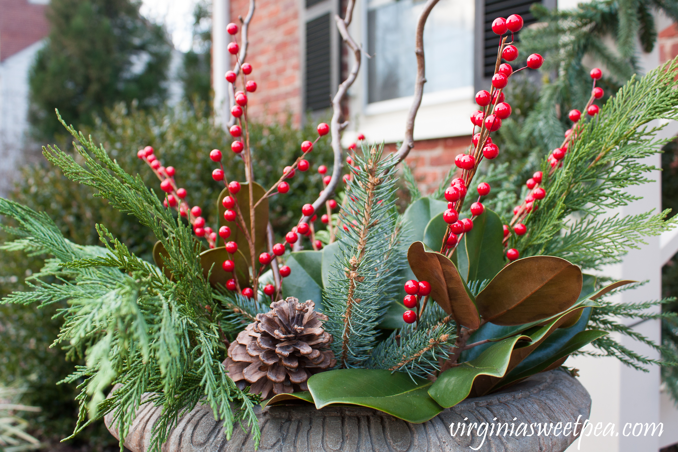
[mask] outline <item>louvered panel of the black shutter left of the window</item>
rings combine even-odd
[[[328,13],[306,22],[306,110],[321,110],[331,105],[331,53]]]

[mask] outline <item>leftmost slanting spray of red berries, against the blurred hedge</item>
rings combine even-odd
[[[148,166],[151,167],[155,176],[160,180],[160,189],[165,192],[165,199],[163,199],[163,205],[165,209],[172,207],[179,212],[179,214],[188,218],[188,221],[193,225],[193,232],[197,237],[204,237],[207,240],[207,244],[210,245],[210,248],[214,248],[216,243],[216,233],[210,228],[210,226],[205,226],[205,219],[200,215],[202,214],[202,209],[199,206],[194,206],[193,208],[188,207],[188,204],[184,201],[188,192],[185,188],[177,188],[176,182],[174,181],[174,176],[176,174],[176,169],[174,167],[168,166],[163,167],[161,162],[155,157],[155,150],[151,146],[146,146],[143,149],[140,149],[136,156],[139,159],[142,159]]]

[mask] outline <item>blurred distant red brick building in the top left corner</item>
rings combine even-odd
[[[45,5],[28,0],[0,0],[0,62],[49,33]]]

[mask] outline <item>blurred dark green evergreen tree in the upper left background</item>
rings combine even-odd
[[[30,119],[37,138],[68,123],[92,125],[115,102],[157,106],[165,98],[171,49],[163,28],[139,15],[130,0],[54,0],[50,33],[31,70]]]

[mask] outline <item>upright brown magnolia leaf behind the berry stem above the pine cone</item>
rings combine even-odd
[[[260,186],[254,182],[252,186],[253,190],[253,199],[254,203],[259,201],[261,197],[264,196],[266,190],[264,187]],[[250,227],[250,188],[248,182],[242,182],[240,184],[240,191],[237,194],[233,195],[228,191],[228,188],[224,188],[219,194],[217,199],[217,211],[219,218],[219,226],[228,226],[231,228],[231,236],[228,237],[225,241],[233,241],[238,245],[238,252],[234,255],[235,259],[235,268],[244,268],[241,271],[237,271],[238,283],[240,287],[247,287],[250,285],[250,271],[245,271],[245,268],[252,267],[252,254],[250,253],[250,245],[247,243],[247,238],[245,233],[240,229],[241,223],[239,219],[236,219],[235,222],[227,222],[224,219],[224,212],[226,207],[222,204],[222,200],[226,196],[235,197],[240,211],[243,214],[243,220],[245,220],[245,229],[248,234],[252,233]],[[235,207],[234,207],[235,209]],[[238,226],[240,225],[240,226]],[[266,228],[268,227],[268,199],[264,199],[257,207],[254,209],[254,271],[259,270],[259,254],[266,249]],[[217,234],[217,245],[224,245],[224,239],[222,239]],[[219,264],[221,265],[221,264]]]

